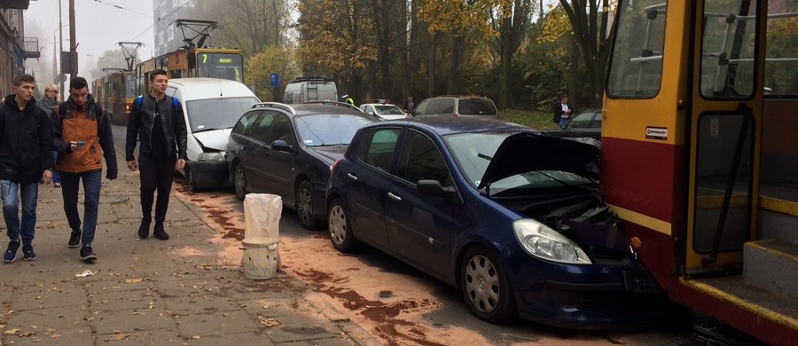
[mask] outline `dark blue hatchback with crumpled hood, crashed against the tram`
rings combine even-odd
[[[458,287],[491,323],[653,323],[667,299],[599,197],[599,149],[473,118],[372,123],[335,162],[332,246],[367,244]]]

